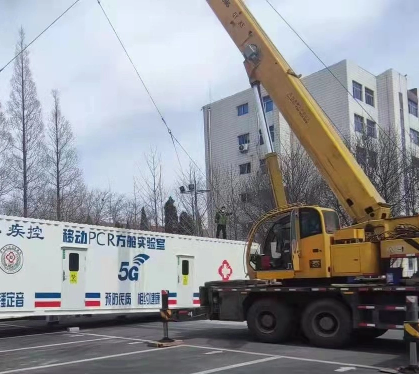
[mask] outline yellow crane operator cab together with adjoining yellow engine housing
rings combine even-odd
[[[340,229],[332,209],[287,207],[267,214],[255,225],[261,228],[263,223],[269,225],[261,235],[258,252],[248,257],[251,278],[318,279],[379,273],[378,244],[365,242],[363,229]]]

